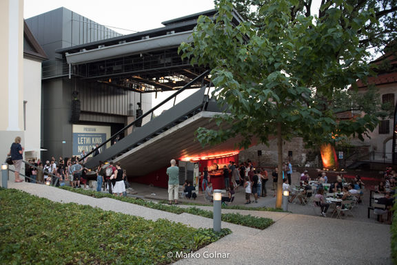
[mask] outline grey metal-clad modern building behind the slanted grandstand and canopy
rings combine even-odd
[[[149,94],[141,96],[131,89],[88,81],[58,52],[121,34],[66,8],[26,19],[26,23],[48,54],[43,62],[41,99],[41,147],[48,150],[43,152],[45,160],[80,155],[83,150],[88,153],[132,120],[136,103],[144,111],[151,108]]]

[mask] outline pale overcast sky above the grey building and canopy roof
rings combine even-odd
[[[121,34],[160,28],[161,22],[214,8],[213,0],[25,0],[23,17],[65,7]],[[119,30],[123,28],[126,30]]]

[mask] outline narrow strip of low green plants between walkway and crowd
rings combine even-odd
[[[95,198],[113,198],[115,200],[121,200],[123,202],[139,204],[141,206],[145,206],[148,208],[157,209],[157,210],[161,210],[161,211],[167,211],[170,213],[176,213],[176,214],[191,213],[193,215],[200,215],[205,218],[212,218],[212,211],[202,210],[202,209],[199,209],[196,207],[181,208],[181,207],[174,206],[174,205],[167,205],[167,204],[161,204],[161,203],[156,203],[156,202],[147,202],[142,199],[129,198],[129,197],[116,197],[109,193],[102,193],[102,192],[98,192],[98,191],[88,191],[85,189],[73,189],[71,187],[61,187],[61,189],[81,193],[84,195],[90,195]],[[252,227],[255,229],[266,229],[268,226],[270,226],[274,223],[274,221],[269,218],[258,218],[256,216],[241,215],[239,213],[233,213],[233,214],[223,213],[222,220],[224,222],[230,222],[232,224],[238,224],[238,225],[242,225],[242,226],[249,226],[249,227]]]

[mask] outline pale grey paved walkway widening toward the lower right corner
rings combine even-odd
[[[13,178],[12,178],[13,179]],[[110,198],[92,198],[39,184],[8,182],[8,187],[47,198],[54,202],[75,202],[156,220],[166,218],[196,228],[212,227],[212,219],[183,213],[176,215],[147,209]],[[200,206],[212,209],[209,206]],[[176,264],[391,264],[390,226],[352,220],[336,220],[294,213],[222,210],[272,218],[275,222],[261,231],[222,222],[232,230],[223,237],[181,259]],[[207,255],[227,255],[216,260]]]

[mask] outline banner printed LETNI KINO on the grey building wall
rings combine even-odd
[[[96,144],[101,145],[110,136],[110,126],[73,125],[73,156],[80,156],[83,150],[90,152]],[[110,142],[101,151],[107,147],[110,147]]]

